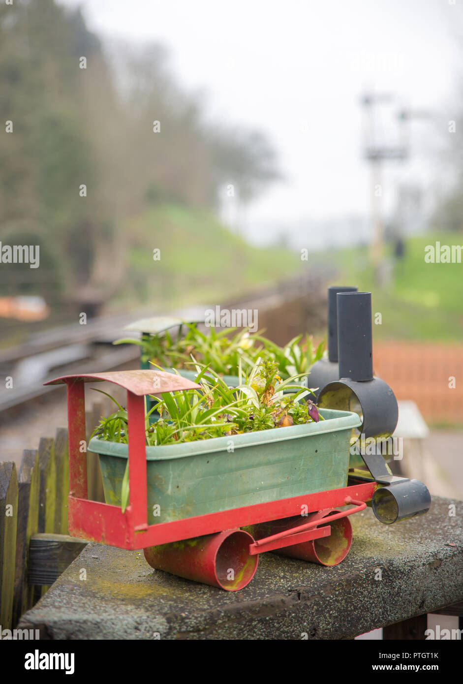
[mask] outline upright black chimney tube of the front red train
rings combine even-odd
[[[340,292],[336,298],[339,378],[373,380],[371,292]]]

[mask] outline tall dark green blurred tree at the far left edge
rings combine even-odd
[[[51,243],[55,273],[71,289],[81,261],[92,258],[80,239],[68,250],[69,235],[92,215],[79,196],[81,183],[92,184],[95,163],[79,98],[82,47],[88,55],[100,50],[79,12],[68,15],[53,0],[1,8],[0,120],[12,120],[13,133],[2,136],[0,148],[0,237],[11,220],[27,221]]]

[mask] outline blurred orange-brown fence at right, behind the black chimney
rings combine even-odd
[[[375,373],[397,399],[411,399],[426,421],[463,423],[463,345],[377,342]]]

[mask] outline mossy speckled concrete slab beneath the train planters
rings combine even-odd
[[[19,626],[52,639],[337,640],[463,600],[462,501],[435,497],[425,516],[395,525],[371,509],[351,520],[339,566],[263,553],[239,592],[153,570],[142,551],[89,544]]]

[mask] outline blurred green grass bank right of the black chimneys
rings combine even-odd
[[[425,246],[436,241],[463,245],[463,235],[427,233],[412,237],[406,241],[404,257],[398,260],[387,248],[394,267],[391,285],[385,289],[375,284],[367,248],[330,255],[342,274],[336,284],[371,291],[373,315],[382,314],[382,324],[373,324],[375,339],[462,342],[463,263],[425,263]]]

